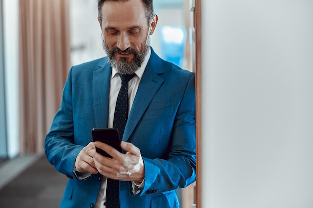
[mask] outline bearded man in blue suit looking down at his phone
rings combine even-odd
[[[49,162],[69,178],[60,207],[177,208],[175,190],[195,181],[195,75],[150,47],[152,0],[99,0],[98,21],[107,57],[70,69],[45,139]],[[116,128],[123,152],[94,142],[93,128]]]

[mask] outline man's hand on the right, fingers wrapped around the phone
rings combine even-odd
[[[123,154],[102,142],[95,142],[94,145],[113,157],[104,157],[93,150],[95,167],[102,175],[120,181],[143,181],[144,163],[139,148],[128,142],[121,142],[121,148],[127,151]]]

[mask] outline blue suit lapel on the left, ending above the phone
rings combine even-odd
[[[99,69],[93,72],[92,98],[95,128],[106,128],[108,126],[111,73],[111,66],[107,61],[102,61],[99,64]]]

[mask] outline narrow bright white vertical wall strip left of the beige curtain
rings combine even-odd
[[[8,156],[19,153],[18,0],[3,0],[6,126]]]

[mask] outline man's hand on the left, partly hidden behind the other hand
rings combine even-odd
[[[98,173],[98,170],[95,168],[92,150],[95,150],[94,142],[90,142],[80,151],[75,161],[75,168],[77,171],[88,171],[93,174]]]

